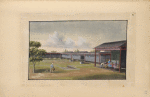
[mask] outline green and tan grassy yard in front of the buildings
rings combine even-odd
[[[49,73],[50,65],[54,63],[54,73]],[[63,70],[61,67],[68,65],[78,70]],[[98,64],[97,64],[98,66]],[[29,63],[29,79],[60,79],[60,80],[125,80],[125,73],[113,72],[103,68],[94,67],[94,63],[80,64],[79,61],[70,62],[68,59],[44,59],[35,65],[35,73],[32,73],[33,64]],[[42,74],[42,76],[39,76]]]

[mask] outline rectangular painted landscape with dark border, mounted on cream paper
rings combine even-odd
[[[29,22],[29,80],[126,80],[126,20]]]

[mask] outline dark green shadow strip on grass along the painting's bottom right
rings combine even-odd
[[[74,77],[73,80],[126,80],[125,75],[120,74],[98,74],[90,76]]]

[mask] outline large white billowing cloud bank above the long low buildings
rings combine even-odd
[[[78,37],[77,44],[71,38],[67,38],[64,40],[63,36],[60,36],[58,32],[54,32],[53,35],[49,34],[49,38],[47,39],[44,46],[48,47],[56,47],[56,48],[90,48],[89,43],[82,37]]]

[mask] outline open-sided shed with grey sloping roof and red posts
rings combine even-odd
[[[115,42],[107,42],[103,43],[97,47],[95,47],[95,64],[96,66],[96,51],[110,51],[111,58],[110,61],[116,61],[119,64],[119,72],[121,69],[126,69],[126,48],[127,41],[115,41]]]

